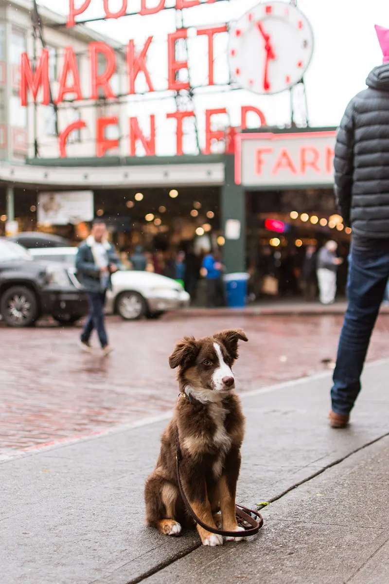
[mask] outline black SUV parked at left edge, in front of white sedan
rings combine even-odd
[[[21,245],[0,237],[0,314],[9,326],[43,315],[72,324],[88,312],[85,292],[64,266],[33,262]]]

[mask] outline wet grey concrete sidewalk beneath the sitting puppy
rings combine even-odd
[[[170,539],[144,525],[143,484],[166,420],[4,461],[1,581],[386,582],[388,374],[388,360],[366,367],[346,430],[327,425],[327,373],[243,397],[238,500],[277,499],[247,543],[203,548],[195,533]]]

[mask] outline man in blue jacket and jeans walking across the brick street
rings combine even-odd
[[[106,224],[101,219],[93,221],[92,232],[83,241],[76,255],[76,269],[89,301],[89,315],[80,337],[80,347],[90,351],[90,335],[96,329],[103,355],[113,350],[109,345],[104,324],[106,293],[111,286],[111,274],[117,271],[120,260],[114,246],[107,239]]]

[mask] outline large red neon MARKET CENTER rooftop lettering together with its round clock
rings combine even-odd
[[[208,0],[201,2],[200,0],[176,0],[176,5],[171,8],[182,10],[185,8],[192,8],[194,6],[214,4],[218,0]],[[147,16],[156,14],[165,9],[165,0],[160,0],[154,6],[150,5],[152,0],[141,0],[139,8],[139,15]],[[82,15],[92,4],[92,0],[85,0],[78,7],[75,6],[75,0],[69,0],[69,13],[66,20],[67,27],[75,26],[79,20],[76,20]],[[121,8],[112,12],[110,10],[110,2],[103,0],[104,13],[106,19],[118,19],[127,15],[128,2],[122,0]],[[170,7],[169,7],[170,8]],[[281,13],[281,12],[282,13]],[[280,28],[279,22],[283,22],[286,27],[285,30],[289,33],[288,47],[283,47],[283,36],[285,31],[282,26]],[[81,21],[82,22],[82,21]],[[274,24],[275,23],[275,24]],[[270,34],[271,29],[274,29],[274,34]],[[274,93],[288,89],[296,81],[296,75],[300,76],[309,64],[311,55],[311,46],[313,46],[313,39],[309,23],[297,10],[295,6],[289,5],[286,2],[268,2],[267,4],[260,4],[251,11],[243,15],[243,17],[236,23],[232,23],[229,29],[227,25],[208,26],[195,30],[195,36],[204,36],[208,44],[208,81],[205,86],[213,86],[214,71],[213,71],[213,43],[216,36],[226,33],[228,30],[230,37],[229,44],[229,65],[232,78],[236,81],[240,88],[248,89],[254,93]],[[293,33],[293,34],[292,34]],[[294,36],[293,36],[294,35]],[[293,39],[296,36],[296,53],[293,53]],[[188,70],[187,60],[180,60],[177,57],[177,44],[182,43],[188,37],[188,30],[178,29],[176,32],[167,34],[167,84],[162,91],[170,90],[177,95],[177,92],[190,91],[191,86],[189,81],[184,81],[180,78],[180,72],[188,71],[188,79],[190,78],[190,71]],[[136,95],[135,83],[139,75],[145,79],[146,92],[155,92],[153,84],[153,75],[148,68],[148,50],[153,43],[153,36],[149,36],[141,48],[135,47],[133,39],[128,41],[125,51],[125,61],[127,65],[127,95]],[[305,43],[305,44],[304,44]],[[297,46],[299,49],[297,50]],[[302,48],[303,47],[303,48]],[[283,52],[282,52],[283,51]],[[285,53],[286,51],[286,53]],[[258,65],[258,54],[264,55],[265,59],[260,58],[260,62],[264,67]],[[250,60],[245,58],[245,54],[251,54]],[[296,61],[290,64],[288,55],[293,54],[293,60]],[[281,58],[283,55],[283,58]],[[88,46],[89,57],[89,78],[90,78],[90,92],[89,95],[84,95],[80,83],[80,74],[76,60],[76,54],[72,46],[65,47],[64,58],[62,62],[62,69],[58,78],[57,95],[52,96],[50,91],[49,81],[49,53],[47,48],[43,48],[37,62],[31,62],[27,53],[23,53],[21,57],[20,67],[20,102],[22,106],[27,106],[29,102],[29,93],[32,99],[37,103],[38,95],[40,97],[41,105],[60,105],[63,103],[82,102],[86,99],[93,102],[99,102],[101,98],[107,100],[117,100],[118,95],[113,90],[111,83],[113,75],[117,71],[117,54],[113,47],[103,42],[93,42]],[[271,62],[269,60],[274,61]],[[242,62],[250,61],[252,67],[247,68],[244,72]],[[104,70],[101,71],[101,62],[104,62]],[[285,69],[286,68],[286,69]],[[285,73],[286,71],[286,73]],[[295,75],[295,77],[293,77]],[[280,77],[281,76],[281,77]],[[161,91],[161,90],[159,90]],[[173,94],[173,95],[174,95]],[[121,97],[123,97],[121,95]],[[257,114],[258,126],[266,124],[265,116],[260,109],[254,106],[241,107],[240,127],[242,130],[247,127],[247,114],[249,112]],[[218,107],[216,109],[205,110],[205,147],[203,154],[211,154],[212,145],[215,142],[226,140],[226,149],[230,150],[228,146],[228,136],[225,130],[213,130],[212,123],[217,120],[220,114],[227,114],[225,107]],[[184,120],[194,118],[195,112],[193,110],[177,110],[175,112],[167,113],[166,119],[172,120],[172,130],[175,128],[176,132],[176,154],[183,155],[183,124]],[[116,149],[120,146],[119,138],[108,139],[107,128],[110,126],[117,127],[119,124],[117,116],[99,117],[96,120],[96,156],[103,157],[107,151]],[[75,130],[82,130],[87,127],[85,120],[77,120],[61,131],[58,135],[59,155],[66,157],[66,144],[69,136]],[[136,156],[136,147],[141,144],[146,156],[153,156],[156,154],[156,116],[152,114],[149,116],[149,131],[148,135],[143,133],[139,126],[139,121],[136,117],[129,117],[129,152],[130,156]],[[233,137],[233,128],[230,131],[230,141]]]

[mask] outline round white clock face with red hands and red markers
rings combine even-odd
[[[229,29],[232,78],[254,93],[279,93],[300,81],[313,53],[310,23],[296,6],[264,2]]]

